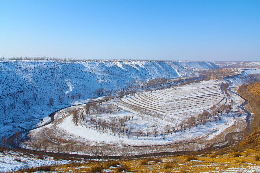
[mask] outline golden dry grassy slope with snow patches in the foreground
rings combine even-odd
[[[124,161],[86,162],[80,164],[65,164],[51,167],[49,172],[119,172],[127,169],[129,172],[255,172],[260,166],[260,151],[257,145],[250,144],[241,147],[229,147],[220,150],[175,155],[160,159],[134,159]],[[234,157],[237,156],[237,157]],[[239,156],[241,155],[241,156]],[[212,157],[214,156],[214,157]],[[187,161],[190,160],[190,161]],[[158,161],[158,162],[157,162]],[[113,164],[112,164],[113,163]],[[145,163],[145,164],[144,164]],[[113,165],[113,166],[111,166]],[[257,168],[258,167],[258,168]],[[101,169],[96,169],[101,168]],[[103,170],[106,169],[106,170]],[[101,171],[103,170],[103,171]],[[125,170],[126,171],[126,170]],[[25,171],[20,171],[25,172]]]

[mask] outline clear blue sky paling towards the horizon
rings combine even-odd
[[[0,57],[260,61],[260,1],[0,0]]]

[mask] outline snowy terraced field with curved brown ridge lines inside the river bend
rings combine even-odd
[[[163,121],[163,124],[177,124],[212,105],[224,104],[226,99],[219,85],[216,81],[203,81],[123,98],[113,104],[155,121]]]

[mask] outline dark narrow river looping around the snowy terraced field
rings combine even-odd
[[[239,105],[238,107],[242,110],[245,111],[245,113],[247,114],[246,116],[246,122],[247,122],[247,128],[248,128],[248,123],[249,123],[249,118],[251,116],[250,112],[248,110],[246,110],[244,108],[244,106],[246,104],[248,104],[248,100],[246,98],[244,98],[243,96],[239,95],[238,93],[235,93],[234,91],[231,91],[231,88],[228,89],[230,92],[238,95],[239,97],[241,97],[242,99],[244,99],[244,102]],[[100,101],[100,100],[99,100]],[[94,102],[97,102],[97,101],[94,101]],[[88,102],[89,103],[89,102]],[[83,105],[83,104],[86,104],[86,103],[82,103],[82,104],[77,104],[77,105],[73,105],[73,106],[78,106],[78,105]],[[148,154],[140,154],[140,155],[128,155],[128,156],[108,156],[108,155],[98,155],[98,156],[93,156],[93,155],[80,155],[80,154],[69,154],[69,153],[55,153],[55,152],[44,152],[44,151],[36,151],[36,150],[31,150],[31,149],[27,149],[27,148],[21,148],[21,147],[18,147],[15,143],[14,143],[14,140],[16,139],[16,136],[19,136],[19,135],[22,135],[24,133],[27,133],[31,130],[34,130],[34,129],[37,129],[37,128],[40,128],[40,127],[43,127],[45,125],[48,125],[50,123],[52,123],[54,121],[54,115],[59,112],[60,110],[63,110],[65,108],[69,108],[69,107],[72,107],[72,106],[67,106],[67,107],[64,107],[64,108],[61,108],[59,110],[56,110],[55,112],[51,113],[49,115],[49,117],[51,118],[51,121],[49,121],[48,123],[44,124],[44,125],[41,125],[41,126],[38,126],[38,127],[34,127],[32,129],[27,129],[25,131],[21,131],[21,132],[18,132],[18,133],[15,133],[13,134],[12,136],[10,136],[8,139],[7,139],[7,142],[8,144],[12,147],[12,148],[19,148],[19,149],[23,149],[25,151],[32,151],[32,152],[36,152],[36,153],[41,153],[41,154],[45,154],[45,155],[57,155],[57,156],[65,156],[65,157],[75,157],[75,158],[83,158],[83,159],[131,159],[131,158],[141,158],[141,157],[153,157],[153,156],[166,156],[166,155],[174,155],[174,154],[181,154],[181,153],[189,153],[190,151],[172,151],[172,152],[158,152],[158,153],[148,153]],[[232,132],[231,134],[237,134],[239,132]],[[227,134],[229,135],[229,133]],[[226,136],[227,136],[226,135]],[[192,143],[192,142],[189,142],[189,143]],[[220,144],[222,142],[218,142],[216,144]],[[183,143],[185,144],[185,143]],[[217,146],[215,148],[224,148],[226,146],[226,144],[224,146]],[[201,149],[201,150],[197,150],[197,151],[205,151],[205,150],[208,150],[208,149],[212,149],[212,147],[208,147],[208,148],[204,148],[204,149]]]

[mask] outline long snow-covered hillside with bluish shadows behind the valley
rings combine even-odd
[[[187,67],[209,69],[217,66],[200,61],[1,60],[0,131],[3,133],[0,137],[4,133],[14,133],[17,126],[23,130],[47,122],[49,113],[58,108],[97,97],[98,88],[114,90],[132,81],[198,75]],[[76,98],[67,97],[68,92]],[[36,101],[33,93],[37,93]],[[80,99],[77,93],[82,94]],[[63,103],[60,97],[63,97]],[[49,104],[50,98],[54,99],[53,106]],[[24,99],[29,103],[23,103]]]

